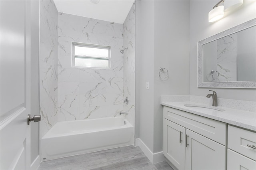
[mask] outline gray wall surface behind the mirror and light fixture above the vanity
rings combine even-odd
[[[256,18],[255,1],[244,0],[237,10],[226,12],[224,18],[208,22],[208,12],[218,0],[190,1],[190,95],[206,96],[210,88],[197,87],[197,42]],[[211,88],[219,98],[256,101],[256,89]]]

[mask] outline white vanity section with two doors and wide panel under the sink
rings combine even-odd
[[[164,107],[164,156],[178,170],[225,170],[226,123]]]

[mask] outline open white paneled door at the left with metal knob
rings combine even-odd
[[[30,169],[30,1],[0,1],[0,169]]]

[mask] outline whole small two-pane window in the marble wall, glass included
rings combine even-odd
[[[86,43],[72,43],[73,67],[110,68],[110,47]]]

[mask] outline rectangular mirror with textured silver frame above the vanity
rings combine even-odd
[[[245,55],[237,57],[238,49],[236,48],[236,43],[240,43],[236,41],[237,36],[241,34],[240,37],[244,38],[245,34],[242,32],[250,32],[249,30],[253,31],[252,29],[255,30],[255,28],[256,18],[198,42],[198,87],[256,88],[255,78],[245,78],[249,73],[255,72],[255,58],[253,57],[253,61],[245,64]],[[208,51],[207,58],[205,57],[206,51]],[[246,68],[246,74],[241,75],[237,71],[240,69],[238,63]],[[250,68],[254,71],[250,71]],[[220,75],[218,79],[218,73],[214,73],[214,77],[212,77],[211,70],[218,71]]]

